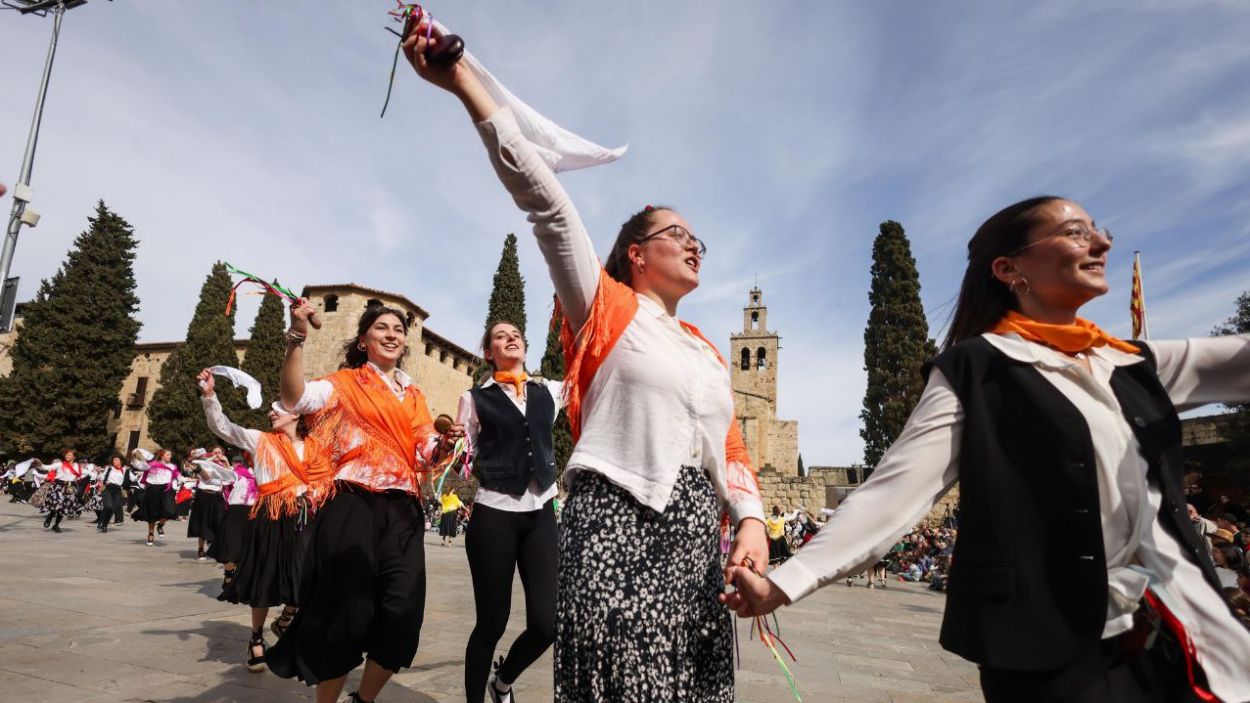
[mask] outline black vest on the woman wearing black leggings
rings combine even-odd
[[[530,383],[525,390],[524,415],[499,384],[470,390],[481,424],[474,472],[482,488],[520,495],[530,479],[544,490],[555,483],[555,400],[540,383]]]

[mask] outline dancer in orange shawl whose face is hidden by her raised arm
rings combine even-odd
[[[258,499],[248,523],[248,537],[238,557],[234,578],[221,589],[218,600],[251,608],[251,638],[248,642],[248,669],[265,670],[265,618],[269,609],[282,605],[274,620],[274,634],[281,637],[295,615],[299,602],[300,567],[304,562],[301,539],[311,507],[305,498],[306,480],[324,480],[328,462],[314,442],[298,432],[300,417],[269,412],[272,432],[246,429],[221,413],[212,373],[196,377],[209,429],[234,447],[250,453],[255,462]],[[276,405],[276,404],[275,404]],[[201,475],[210,475],[201,469]],[[218,477],[210,475],[219,480]],[[209,480],[209,478],[201,478]],[[231,489],[232,494],[234,489]],[[194,514],[194,513],[192,513]]]

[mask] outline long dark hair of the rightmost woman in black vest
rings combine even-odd
[[[942,349],[974,338],[994,326],[1008,310],[1016,306],[1015,295],[994,278],[990,266],[999,256],[1010,256],[1029,243],[1029,233],[1038,223],[1036,210],[1046,203],[1066,200],[1058,195],[1040,195],[1008,205],[985,220],[968,241],[968,269],[959,286],[950,329]]]

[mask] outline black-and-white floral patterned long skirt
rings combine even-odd
[[[684,467],[664,513],[582,472],[560,512],[555,700],[734,699],[720,500]]]

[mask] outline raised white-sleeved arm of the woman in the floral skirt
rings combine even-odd
[[[555,173],[521,134],[511,110],[500,108],[462,63],[426,63],[425,48],[420,28],[404,43],[416,73],[459,98],[478,125],[495,174],[534,225],[551,283],[576,333],[590,313],[602,270],[581,216]]]

